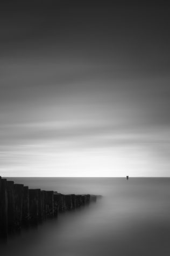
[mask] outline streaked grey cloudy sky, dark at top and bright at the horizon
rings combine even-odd
[[[167,1],[2,1],[0,175],[170,177]]]

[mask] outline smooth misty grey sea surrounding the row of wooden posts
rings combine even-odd
[[[94,193],[103,198],[22,230],[2,256],[170,255],[168,178],[9,178],[30,188]]]

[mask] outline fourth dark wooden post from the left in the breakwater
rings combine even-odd
[[[29,187],[23,187],[23,216],[22,223],[28,225],[30,221],[30,193]]]

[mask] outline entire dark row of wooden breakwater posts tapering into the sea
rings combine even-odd
[[[30,189],[0,177],[0,235],[21,230],[23,226],[37,225],[59,212],[74,210],[96,201],[90,194],[62,194],[56,191]]]

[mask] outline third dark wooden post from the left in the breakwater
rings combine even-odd
[[[23,213],[23,188],[22,184],[14,184],[14,197],[15,197],[15,227],[20,230],[22,225]]]

